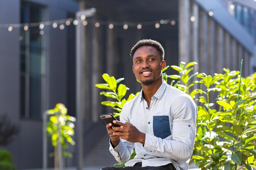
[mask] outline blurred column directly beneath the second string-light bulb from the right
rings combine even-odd
[[[215,73],[216,66],[216,23],[212,18],[208,20],[208,74]]]

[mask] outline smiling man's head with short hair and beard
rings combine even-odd
[[[131,50],[132,71],[142,85],[162,84],[164,49],[154,40],[141,40]]]

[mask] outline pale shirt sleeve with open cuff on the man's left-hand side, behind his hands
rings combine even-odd
[[[130,122],[127,114],[128,110],[126,105],[124,105],[120,116],[121,122]],[[126,141],[125,139],[120,139],[119,144],[115,148],[113,148],[110,142],[109,150],[119,163],[126,163],[132,155],[133,148],[134,143]]]

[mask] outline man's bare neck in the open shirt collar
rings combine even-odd
[[[163,83],[163,80],[159,79],[159,81],[154,82],[154,83],[150,84],[149,86],[145,86],[144,84],[141,84],[142,90],[143,90],[144,99],[148,103],[148,108],[150,106],[151,97],[153,95],[155,95],[155,93],[157,92],[159,87],[162,85],[162,83]]]

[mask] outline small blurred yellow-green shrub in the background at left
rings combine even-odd
[[[47,122],[47,133],[54,146],[54,153],[50,156],[55,158],[55,167],[58,165],[58,149],[61,150],[63,157],[72,158],[72,153],[67,152],[69,144],[75,145],[73,140],[74,136],[74,122],[75,117],[67,115],[67,108],[64,104],[56,104],[56,107],[51,110],[47,110],[49,121]]]

